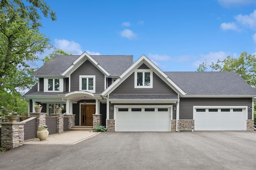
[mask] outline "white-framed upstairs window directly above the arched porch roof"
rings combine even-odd
[[[79,76],[79,90],[95,93],[95,76]]]

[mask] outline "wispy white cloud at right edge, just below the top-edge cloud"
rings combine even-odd
[[[239,14],[238,16],[235,17],[235,19],[236,21],[238,21],[238,23],[246,27],[256,29],[256,10],[254,10],[254,12],[252,12],[249,16]]]

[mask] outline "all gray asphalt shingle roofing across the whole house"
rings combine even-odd
[[[33,76],[61,75],[80,55],[56,55],[34,72]],[[120,76],[133,64],[132,55],[91,55],[110,75]],[[255,95],[252,88],[235,72],[165,72],[187,95]],[[37,85],[26,95],[57,95],[60,93],[37,92]],[[122,95],[114,98],[170,98],[170,96]],[[171,97],[172,98],[172,97]]]

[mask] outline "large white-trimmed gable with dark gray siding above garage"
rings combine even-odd
[[[140,70],[150,70],[152,72],[152,88],[136,88],[136,72]],[[145,71],[148,72],[148,71]],[[151,74],[150,74],[151,75]],[[155,82],[156,81],[156,82]],[[155,86],[155,87],[154,87]],[[184,96],[185,92],[179,88],[168,76],[162,72],[145,55],[142,55],[128,70],[126,70],[111,86],[103,93],[103,96],[109,94],[179,94]]]

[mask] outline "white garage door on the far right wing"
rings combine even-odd
[[[246,108],[194,108],[195,130],[246,130]]]

